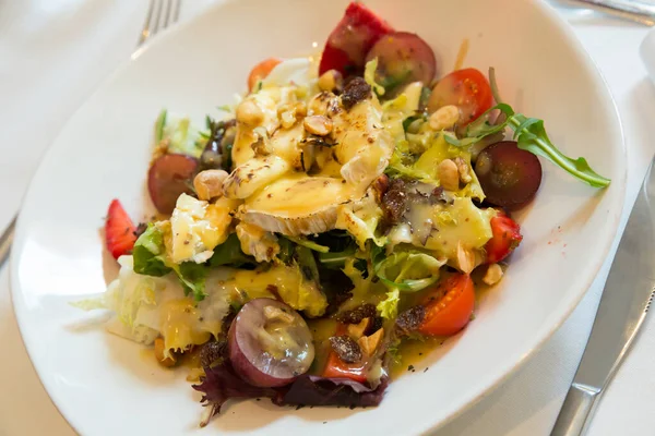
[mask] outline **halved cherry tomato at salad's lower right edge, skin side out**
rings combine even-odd
[[[445,278],[424,304],[426,316],[418,331],[433,336],[456,334],[466,327],[475,306],[475,290],[471,276],[454,274]]]

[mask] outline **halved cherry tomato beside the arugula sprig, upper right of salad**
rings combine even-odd
[[[479,70],[464,69],[440,80],[432,88],[428,110],[433,112],[446,105],[460,108],[460,125],[477,119],[493,105],[487,77]]]

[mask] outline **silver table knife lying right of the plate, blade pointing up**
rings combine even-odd
[[[594,327],[551,436],[581,435],[642,326],[655,290],[655,158],[609,269]]]

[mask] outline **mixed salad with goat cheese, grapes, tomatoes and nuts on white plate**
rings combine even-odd
[[[460,332],[502,279],[537,156],[609,184],[502,100],[493,69],[437,71],[420,36],[354,2],[320,56],[262,61],[204,126],[157,118],[159,216],[135,226],[111,202],[121,268],[99,305],[160,365],[192,366],[201,425],[229,399],[379,404],[408,347]]]

